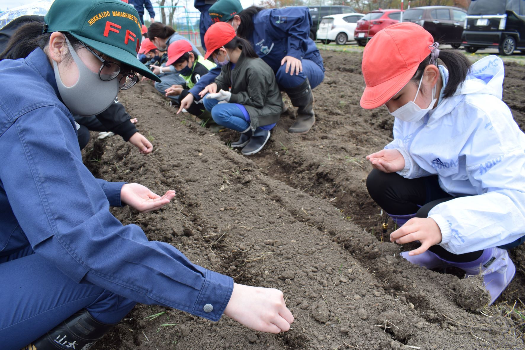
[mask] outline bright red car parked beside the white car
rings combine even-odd
[[[401,19],[400,9],[376,10],[367,13],[355,27],[354,39],[359,46],[365,46],[366,43],[381,29],[391,24],[398,23]]]

